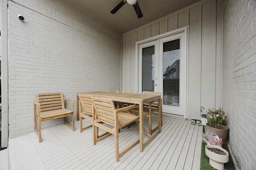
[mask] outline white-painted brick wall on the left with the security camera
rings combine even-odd
[[[63,92],[76,106],[77,92],[120,90],[121,36],[115,31],[62,0],[9,1],[8,20],[11,138],[34,131],[36,93]]]

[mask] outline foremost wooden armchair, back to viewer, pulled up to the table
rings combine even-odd
[[[126,147],[126,149],[124,149],[122,152],[119,152],[118,129],[128,125],[129,123],[132,123],[133,121],[139,120],[137,115],[132,115],[124,111],[138,107],[138,105],[115,109],[113,100],[96,97],[92,97],[92,100],[96,112],[93,121],[93,145],[96,145],[98,141],[105,139],[110,135],[114,135],[116,162],[118,162],[121,156],[123,156],[126,152],[128,152],[128,150],[140,142],[140,139],[138,138],[138,140],[136,140],[130,146]],[[101,128],[108,133],[102,137],[98,137],[98,128]]]

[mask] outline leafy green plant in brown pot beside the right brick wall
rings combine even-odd
[[[222,139],[223,143],[226,143],[228,136],[228,127],[225,125],[227,119],[225,111],[221,107],[218,109],[212,108],[206,110],[203,106],[201,106],[201,113],[203,110],[206,111],[206,119],[208,122],[206,123],[206,126],[214,130],[217,135]]]

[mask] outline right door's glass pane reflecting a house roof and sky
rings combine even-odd
[[[163,104],[180,106],[180,39],[163,44]]]

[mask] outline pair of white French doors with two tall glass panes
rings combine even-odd
[[[139,44],[139,93],[162,92],[163,112],[186,117],[184,32]]]

